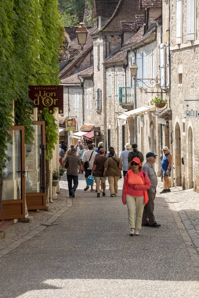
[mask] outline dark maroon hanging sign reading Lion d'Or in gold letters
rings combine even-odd
[[[28,94],[39,114],[44,108],[49,108],[50,114],[53,114],[54,108],[58,108],[59,114],[64,113],[64,86],[29,86]]]

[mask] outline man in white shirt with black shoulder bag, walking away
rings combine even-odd
[[[89,185],[87,184],[88,176],[91,175],[93,162],[94,162],[94,159],[95,159],[95,155],[97,154],[97,152],[93,151],[93,150],[94,150],[93,144],[89,144],[88,145],[88,151],[85,151],[83,153],[83,156],[82,156],[82,168],[83,168],[83,171],[85,171],[85,178],[86,178],[86,187],[84,188],[85,191],[89,189]],[[87,168],[84,168],[84,165],[85,165],[86,161],[89,162],[89,166]],[[93,179],[93,183],[94,183],[94,179]],[[94,191],[93,183],[91,185],[91,190],[90,191]]]

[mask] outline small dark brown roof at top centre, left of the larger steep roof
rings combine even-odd
[[[119,0],[95,0],[94,16],[111,17]]]

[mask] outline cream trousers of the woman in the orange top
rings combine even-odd
[[[134,220],[136,205],[136,220]],[[132,197],[127,195],[127,208],[129,228],[141,228],[142,214],[144,210],[144,197]]]

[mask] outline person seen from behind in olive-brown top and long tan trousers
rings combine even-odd
[[[104,164],[104,176],[108,176],[111,197],[117,197],[118,180],[121,177],[123,162],[119,157],[115,156],[113,149],[109,151],[109,155],[109,158],[107,158]]]

